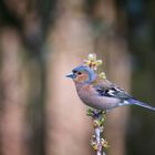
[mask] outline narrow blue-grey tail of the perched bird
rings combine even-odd
[[[149,108],[149,110],[152,110],[152,111],[155,111],[155,107],[154,107],[154,106],[151,106],[151,105],[148,105],[147,103],[140,102],[140,101],[137,101],[137,100],[135,100],[135,99],[131,99],[128,102],[130,102],[131,104],[135,104],[135,105],[138,105],[138,106],[143,106],[143,107],[145,107],[145,108]]]

